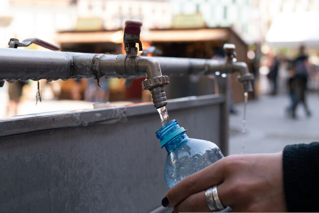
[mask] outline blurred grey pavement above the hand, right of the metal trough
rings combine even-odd
[[[297,107],[297,119],[285,112],[287,95],[262,96],[249,100],[246,133],[242,133],[243,104],[237,104],[237,115],[230,115],[229,154],[273,153],[285,145],[319,141],[319,94],[308,96],[312,112],[307,117],[303,106]]]

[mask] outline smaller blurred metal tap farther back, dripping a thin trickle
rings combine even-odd
[[[254,80],[253,74],[249,73],[248,66],[244,62],[237,62],[237,53],[235,52],[234,44],[224,44],[224,53],[226,66],[229,65],[229,70],[236,69],[239,71],[240,75],[237,77],[237,80],[242,83],[245,92],[253,92]]]

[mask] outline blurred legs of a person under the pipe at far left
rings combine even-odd
[[[8,94],[9,94],[9,104],[6,109],[6,117],[15,116],[18,114],[18,107],[20,103],[20,98],[22,96],[22,89],[26,83],[17,80],[14,83],[9,83]]]

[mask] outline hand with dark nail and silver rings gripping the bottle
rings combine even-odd
[[[169,189],[162,204],[174,207],[174,213],[211,212],[205,190],[212,186],[217,186],[221,204],[233,212],[287,212],[282,152],[218,160]]]

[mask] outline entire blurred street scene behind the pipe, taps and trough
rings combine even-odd
[[[242,133],[243,89],[231,76],[230,154],[275,152],[319,141],[319,0],[0,0],[0,47],[40,38],[61,51],[120,54],[123,27],[143,22],[144,55],[224,60],[223,45],[255,76]],[[46,50],[32,44],[31,50]],[[169,99],[222,92],[218,75],[172,77]],[[182,80],[181,80],[182,79]],[[15,115],[151,101],[141,81],[124,79],[5,82],[0,119]],[[37,102],[37,104],[36,104]],[[169,110],[169,106],[168,106]]]

